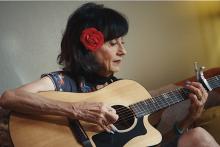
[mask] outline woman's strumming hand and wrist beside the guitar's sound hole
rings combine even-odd
[[[102,102],[77,102],[72,108],[76,119],[98,124],[107,132],[114,130],[112,124],[118,120],[115,109]]]

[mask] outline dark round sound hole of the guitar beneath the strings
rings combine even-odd
[[[122,105],[114,105],[112,107],[116,110],[116,113],[119,116],[119,119],[114,123],[114,126],[118,130],[130,128],[135,120],[133,112],[129,108]]]

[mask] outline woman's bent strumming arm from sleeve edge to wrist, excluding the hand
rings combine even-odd
[[[67,110],[68,103],[50,100],[36,94],[49,90],[55,90],[55,87],[49,77],[44,77],[14,90],[6,90],[1,96],[0,106],[23,113],[74,117],[74,112],[71,114]]]

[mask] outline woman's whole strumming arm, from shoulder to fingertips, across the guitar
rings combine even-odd
[[[0,106],[22,113],[59,115],[80,119],[100,125],[110,131],[110,124],[118,119],[116,111],[103,103],[61,102],[36,94],[40,91],[55,90],[49,77],[26,84],[14,90],[5,91]]]

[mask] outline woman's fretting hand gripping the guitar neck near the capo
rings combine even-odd
[[[191,105],[186,119],[189,121],[189,123],[193,123],[201,116],[208,97],[208,93],[202,84],[198,82],[187,82],[185,88],[191,91],[188,96],[191,100]]]

